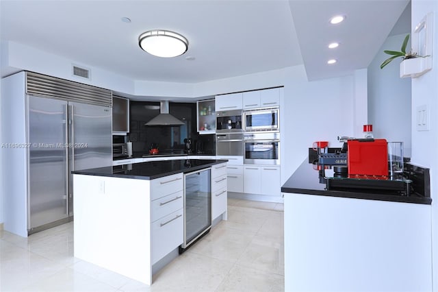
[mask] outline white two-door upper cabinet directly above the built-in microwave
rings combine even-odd
[[[280,88],[247,91],[243,93],[243,108],[270,108],[280,105]]]

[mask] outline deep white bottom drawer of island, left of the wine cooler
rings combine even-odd
[[[151,224],[152,265],[183,243],[183,209]]]

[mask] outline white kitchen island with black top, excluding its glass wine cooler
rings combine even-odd
[[[185,175],[211,169],[211,221],[227,219],[226,165],[182,159],[73,171],[75,257],[151,284],[185,238]]]

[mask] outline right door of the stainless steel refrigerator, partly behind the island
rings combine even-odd
[[[69,103],[70,171],[112,165],[112,112],[105,106]],[[73,180],[70,180],[73,215]]]

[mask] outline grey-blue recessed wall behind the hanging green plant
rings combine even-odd
[[[406,34],[389,36],[368,66],[368,119],[374,138],[402,141],[411,157],[411,78],[400,78],[401,58],[380,69],[389,57],[383,50],[399,51]]]

